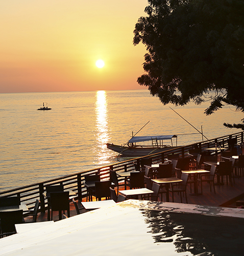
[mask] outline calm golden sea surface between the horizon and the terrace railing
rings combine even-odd
[[[37,111],[47,102],[50,111]],[[0,191],[117,162],[107,142],[124,144],[143,135],[176,134],[178,145],[239,132],[241,112],[225,106],[205,116],[207,103],[162,105],[148,90],[0,94]],[[197,134],[194,134],[197,133]],[[123,159],[121,159],[123,160]]]

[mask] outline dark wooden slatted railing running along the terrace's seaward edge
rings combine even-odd
[[[185,157],[188,154],[189,150],[195,147],[200,147],[203,150],[204,148],[215,146],[216,143],[218,145],[221,144],[221,146],[228,147],[228,139],[231,138],[236,138],[237,144],[243,143],[243,132],[218,137],[215,139],[211,139],[209,141],[203,141],[186,146],[181,146],[178,148],[174,148],[172,150],[169,149],[167,151],[164,151],[163,153],[153,154],[145,157],[152,158],[153,163],[164,162],[165,159],[169,158],[170,156],[172,157],[173,155]],[[85,175],[99,174],[101,176],[101,180],[109,179],[110,169],[113,169],[116,172],[126,172],[132,170],[135,168],[134,163],[139,164],[141,158],[144,157],[113,163],[100,168],[85,170],[80,173],[66,175],[60,178],[2,191],[0,192],[0,197],[18,195],[20,197],[21,203],[27,204],[29,209],[32,209],[34,207],[36,199],[39,198],[41,201],[40,209],[41,211],[45,211],[47,207],[47,201],[44,199],[42,194],[45,190],[45,186],[63,184],[65,190],[72,189],[75,193],[77,193],[77,198],[81,200],[82,198],[86,197],[86,188],[83,184]]]

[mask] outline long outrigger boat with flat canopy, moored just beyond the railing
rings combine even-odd
[[[173,138],[176,138],[175,146],[173,145]],[[171,145],[165,145],[164,140],[170,140]],[[137,142],[151,141],[151,145],[136,144]],[[177,135],[158,135],[158,136],[134,136],[127,145],[115,145],[107,143],[107,148],[113,150],[124,157],[141,157],[151,154],[160,153],[177,147]]]

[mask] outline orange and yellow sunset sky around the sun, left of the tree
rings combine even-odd
[[[133,30],[147,0],[0,4],[0,93],[146,89]],[[95,66],[103,59],[105,66]]]

